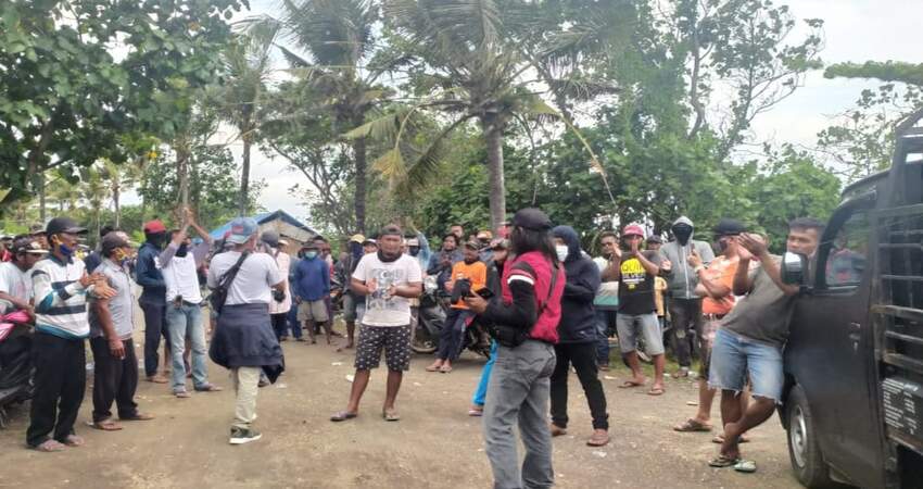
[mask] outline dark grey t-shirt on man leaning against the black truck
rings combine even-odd
[[[772,259],[779,263],[780,258]],[[754,288],[721,322],[739,336],[782,348],[788,339],[788,319],[796,296],[786,296],[762,266],[750,271]]]

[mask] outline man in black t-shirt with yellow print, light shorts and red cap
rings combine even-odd
[[[652,251],[642,251],[644,228],[630,224],[622,230],[622,246],[616,248],[616,260],[603,275],[604,279],[619,280],[619,314],[617,329],[619,348],[632,372],[631,380],[622,383],[621,388],[644,385],[644,374],[637,360],[637,337],[644,337],[646,353],[654,359],[654,385],[647,391],[650,396],[663,393],[663,335],[657,321],[657,305],[654,301],[654,278],[660,273],[660,255]]]

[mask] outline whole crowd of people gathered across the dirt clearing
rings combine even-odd
[[[316,343],[321,331],[327,344],[355,352],[346,405],[330,419],[359,415],[383,353],[381,415],[397,422],[396,398],[410,366],[427,277],[446,298],[448,313],[426,372],[452,372],[472,323],[490,336],[490,360],[468,414],[483,417],[495,487],[553,485],[552,438],[568,430],[571,368],[592,416],[586,443],[610,442],[599,372],[609,369],[614,339],[631,371],[619,387],[644,387],[649,396],[667,389],[667,347],[679,364],[674,377],[695,375],[698,359],[697,412],[673,429],[711,431],[720,391],[722,429],[715,441],[721,446],[712,466],[755,469],[742,459],[739,443],[782,401],[782,348],[798,289],[783,283],[768,238],[733,218],[722,220],[710,241],[695,239],[697,229],[684,216],[667,242],[638,224],[602,231],[595,258],[572,227],[554,226],[536,209],[468,236],[462,226],[448,226],[437,250],[421,233],[391,224],[375,238],[352,236],[336,258],[323,237],[293,247],[273,230],[260,233],[250,218],[235,220],[220,240],[189,210],[179,222],[172,230],[157,220],[146,223],[140,247],[125,231],[104,228],[85,260],[75,254],[87,230],[64,216],[3,240],[0,309],[27,313],[35,328],[28,447],[50,452],[84,443],[75,423],[86,384],[86,339],[94,362],[91,426],[118,430],[123,422],[153,419],[134,400],[136,306],[144,319],[146,380],[168,384],[182,399],[191,396],[190,378],[195,392],[222,390],[208,379],[206,355],[231,371],[230,443],[262,436],[253,426],[256,397],[285,369],[280,342],[292,337]],[[822,227],[811,218],[793,221],[786,249],[812,255]],[[344,343],[332,327],[337,310]],[[169,377],[161,371],[162,338]],[[641,359],[654,364],[649,387]],[[527,451],[521,463],[515,427]]]

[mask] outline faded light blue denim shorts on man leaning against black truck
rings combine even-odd
[[[711,346],[708,386],[741,392],[748,374],[754,396],[780,402],[785,383],[782,349],[719,328]]]

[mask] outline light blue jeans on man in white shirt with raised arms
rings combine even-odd
[[[189,337],[189,347],[192,348],[192,386],[203,389],[208,385],[205,371],[205,328],[202,326],[202,308],[199,304],[182,305],[169,303],[166,306],[166,324],[169,329],[169,354],[173,356],[173,368],[170,368],[172,386],[174,392],[186,390],[186,364],[182,362],[182,353],[186,351],[186,338]]]

